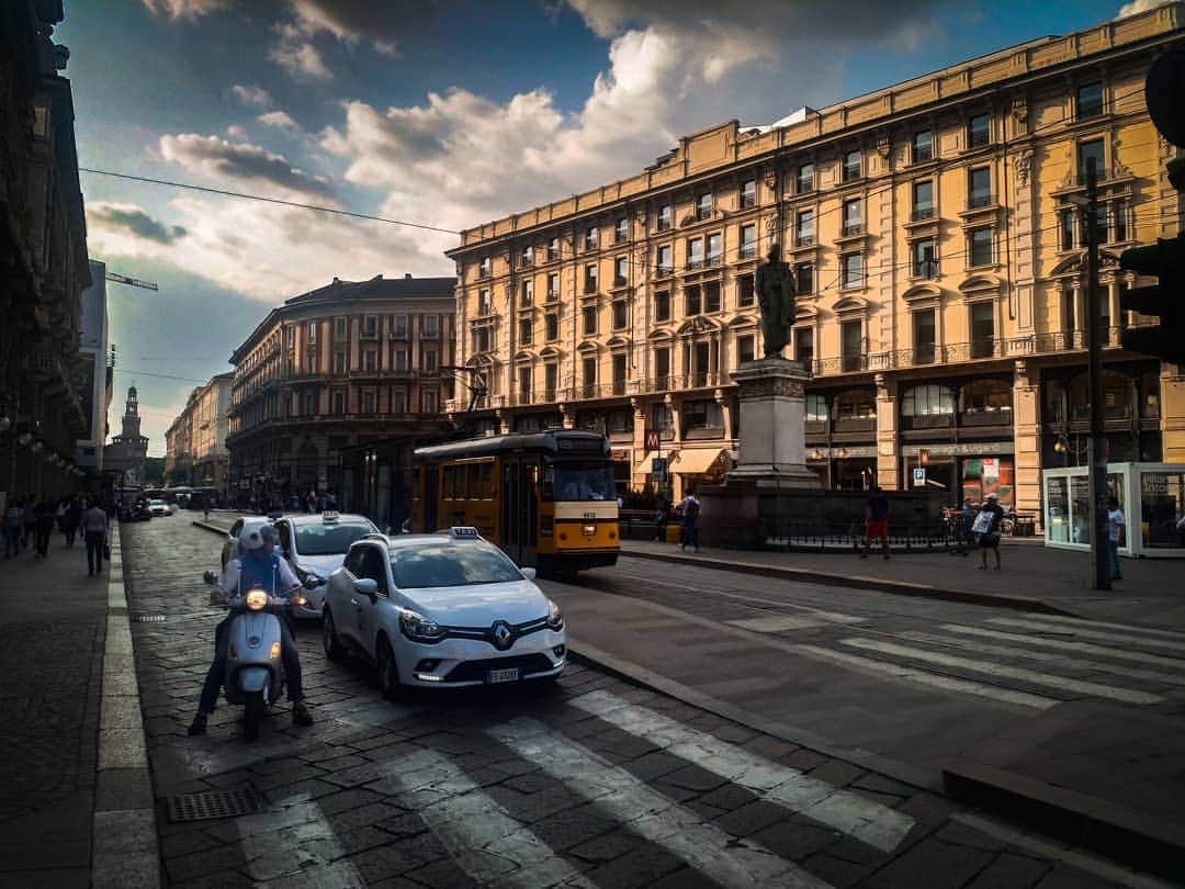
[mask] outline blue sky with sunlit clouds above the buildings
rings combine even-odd
[[[456,231],[1155,0],[66,0],[88,248],[148,453],[283,300],[451,275]],[[433,230],[433,229],[441,229]]]

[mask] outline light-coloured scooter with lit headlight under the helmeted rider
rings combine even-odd
[[[203,575],[206,583],[217,583],[213,571]],[[321,583],[308,575],[306,588]],[[255,741],[268,708],[278,701],[284,689],[284,671],[280,660],[280,621],[286,608],[305,605],[296,594],[289,599],[268,595],[258,587],[249,589],[237,605],[222,606],[235,618],[226,627],[226,674],[223,691],[228,703],[243,706],[243,738]]]

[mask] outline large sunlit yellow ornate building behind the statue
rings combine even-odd
[[[675,495],[720,479],[744,435],[731,372],[763,354],[752,276],[776,243],[798,280],[787,354],[812,372],[807,455],[825,486],[994,491],[1036,512],[1042,467],[1085,461],[1075,202],[1094,162],[1108,452],[1185,460],[1180,369],[1121,348],[1144,319],[1120,312],[1136,281],[1117,268],[1179,231],[1177,149],[1144,77],[1183,45],[1172,4],[774,127],[731,121],[636,177],[463,231],[448,251],[457,357],[488,386],[470,420],[600,429],[622,487],[655,456]]]

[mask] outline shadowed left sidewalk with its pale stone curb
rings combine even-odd
[[[156,887],[156,833],[123,594],[53,535],[2,561],[0,884]]]

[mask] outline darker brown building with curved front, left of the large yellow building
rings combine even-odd
[[[340,493],[342,449],[437,433],[455,283],[334,279],[269,312],[231,356],[231,494]]]

